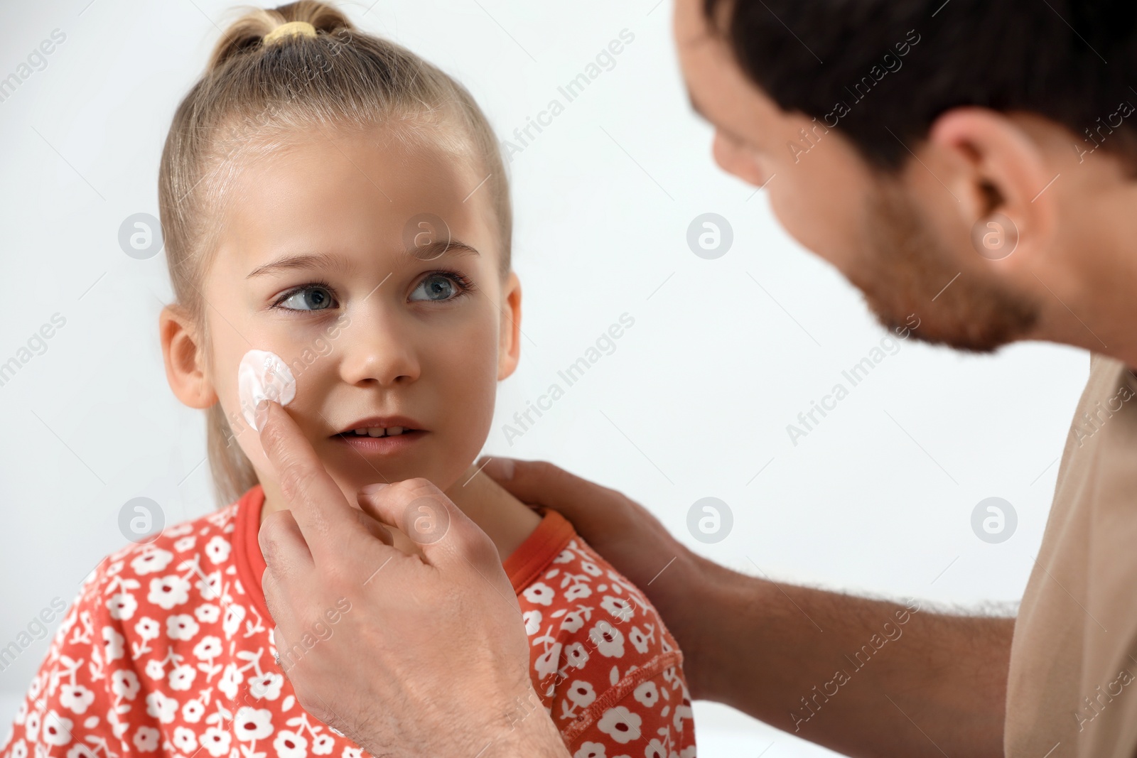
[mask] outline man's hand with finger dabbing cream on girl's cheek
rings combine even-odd
[[[567,756],[530,705],[521,609],[489,536],[425,480],[368,485],[360,507],[425,559],[391,547],[267,405],[260,442],[287,509],[260,527],[263,588],[305,710],[373,756]]]

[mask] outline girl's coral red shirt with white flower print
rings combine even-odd
[[[264,490],[105,558],[0,758],[365,758],[307,714],[274,656]],[[534,690],[574,758],[691,758],[682,653],[655,608],[556,511],[504,561]],[[350,603],[330,611],[350,613]],[[299,651],[302,655],[302,650]],[[511,728],[537,707],[503,715]]]

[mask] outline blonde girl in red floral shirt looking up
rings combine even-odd
[[[350,599],[273,644],[257,531],[281,497],[240,407],[249,350],[289,367],[289,413],[352,505],[365,484],[428,477],[495,541],[541,699],[503,730],[540,705],[575,756],[694,756],[655,609],[564,518],[471,472],[517,365],[521,290],[505,169],[466,90],[321,2],[250,13],[174,116],[159,203],[166,375],[208,415],[230,505],[99,564],[2,758],[359,758],[284,676]]]

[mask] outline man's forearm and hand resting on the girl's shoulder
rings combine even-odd
[[[1003,755],[1013,619],[747,576],[695,556],[621,493],[556,466],[497,458],[483,470],[518,500],[564,514],[648,594],[683,650],[692,698],[849,756]],[[852,663],[850,651],[863,657],[889,633],[895,641],[871,666]],[[836,672],[847,677],[840,697],[825,695],[819,688],[835,686]]]

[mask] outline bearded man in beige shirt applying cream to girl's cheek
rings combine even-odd
[[[678,0],[674,34],[717,163],[769,185],[786,228],[882,323],[915,315],[916,338],[965,350],[1049,340],[1095,353],[1019,617],[778,586],[696,557],[640,506],[546,464],[485,470],[562,510],[649,590],[692,697],[855,756],[1134,756],[1137,7]],[[504,728],[531,688],[521,625],[471,610],[508,590],[484,534],[451,508],[425,563],[395,556],[292,432],[272,406],[262,439],[289,472],[294,516],[260,534],[277,627],[287,636],[339,588],[367,600],[366,632],[292,670],[305,707],[375,755],[566,755],[543,713]],[[425,492],[446,501],[414,481],[367,508],[401,527]],[[316,580],[289,570],[305,541]],[[363,566],[392,556],[387,582],[363,586]],[[891,619],[904,643],[839,681]]]

